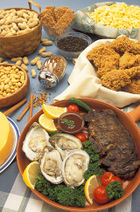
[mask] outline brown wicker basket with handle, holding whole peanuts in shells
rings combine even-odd
[[[32,7],[31,7],[31,3],[33,3],[39,8],[39,11],[41,12],[41,8],[38,4],[36,4],[35,2],[31,0],[28,3],[29,3],[29,9],[7,8],[5,10],[24,9],[24,10],[34,11],[32,10]],[[39,24],[35,28],[33,28],[30,32],[24,33],[22,35],[9,36],[9,37],[0,36],[0,56],[12,58],[12,57],[19,57],[19,56],[31,54],[39,46],[40,40],[41,40],[41,34],[42,34],[42,23],[40,21]]]

